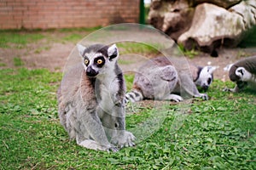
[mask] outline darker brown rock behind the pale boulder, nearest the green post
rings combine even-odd
[[[194,15],[191,6],[187,0],[153,0],[148,14],[149,23],[176,41],[184,31],[189,30]]]

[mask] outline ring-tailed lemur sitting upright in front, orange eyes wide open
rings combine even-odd
[[[134,145],[125,131],[125,81],[115,44],[78,44],[83,63],[67,71],[58,90],[59,117],[71,139],[92,150]]]

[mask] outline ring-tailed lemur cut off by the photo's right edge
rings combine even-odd
[[[224,88],[224,91],[239,92],[247,85],[254,90],[256,89],[256,56],[227,65],[224,70],[229,71],[230,80],[236,82],[235,88]]]

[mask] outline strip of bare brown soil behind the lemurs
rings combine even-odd
[[[46,48],[45,48],[46,47]],[[27,44],[26,48],[0,48],[0,68],[16,68],[14,58],[20,58],[23,65],[28,69],[46,68],[49,71],[63,71],[68,55],[75,48],[74,42],[36,42]],[[40,50],[38,50],[40,49]],[[195,65],[216,65],[218,70],[214,77],[223,81],[228,80],[224,67],[234,63],[237,59],[256,55],[256,48],[220,48],[218,57],[213,58],[209,54],[199,53],[192,59],[187,57],[189,62]],[[150,56],[150,54],[149,54]],[[143,64],[143,60],[137,59],[136,55],[125,55],[128,62],[120,63],[121,67],[137,69]]]

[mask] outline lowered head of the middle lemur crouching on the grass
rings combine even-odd
[[[213,81],[213,71],[217,69],[217,66],[204,66],[199,68],[197,72],[197,79],[195,79],[196,86],[201,87],[203,90],[207,90]]]

